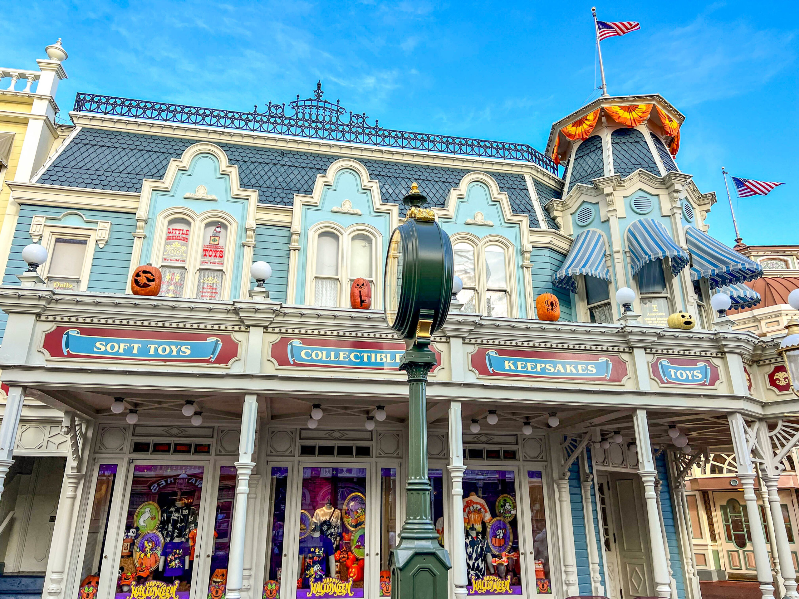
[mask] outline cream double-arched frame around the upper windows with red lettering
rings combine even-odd
[[[234,254],[236,253],[236,240],[237,240],[237,222],[227,212],[221,210],[207,210],[201,214],[197,214],[190,208],[175,207],[168,208],[158,215],[157,227],[155,232],[155,243],[153,244],[150,253],[151,264],[161,268],[161,258],[163,255],[163,248],[166,241],[167,224],[171,220],[182,218],[189,221],[191,226],[189,232],[189,255],[186,258],[186,282],[183,288],[183,297],[189,300],[197,299],[197,279],[200,273],[200,259],[202,252],[202,236],[205,225],[212,221],[221,222],[228,228],[227,239],[225,240],[225,260],[222,268],[210,268],[211,270],[220,270],[224,273],[222,279],[222,291],[219,300],[224,301],[230,298],[230,289],[233,281],[231,275],[233,271]],[[203,266],[202,268],[209,268]]]

